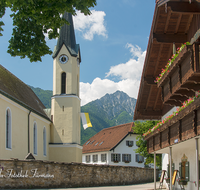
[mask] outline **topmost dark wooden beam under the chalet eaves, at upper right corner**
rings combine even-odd
[[[169,1],[167,6],[171,8],[174,13],[183,14],[200,14],[200,3],[199,2],[180,2],[180,1]]]

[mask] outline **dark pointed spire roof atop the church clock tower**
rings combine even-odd
[[[80,53],[79,44],[76,44],[76,38],[74,34],[74,25],[71,13],[65,12],[63,18],[69,22],[69,25],[64,24],[60,29],[60,35],[57,41],[57,45],[54,49],[52,57],[55,58],[63,44],[66,46],[72,56],[77,56]]]

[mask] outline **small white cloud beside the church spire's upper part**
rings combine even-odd
[[[81,31],[83,37],[87,40],[92,40],[95,34],[107,38],[106,27],[104,26],[105,12],[92,10],[91,13],[91,15],[85,16],[77,11],[77,15],[73,17],[75,30]]]

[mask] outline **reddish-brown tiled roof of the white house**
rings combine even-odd
[[[133,134],[134,123],[127,123],[101,130],[83,145],[83,154],[114,149],[128,135]]]

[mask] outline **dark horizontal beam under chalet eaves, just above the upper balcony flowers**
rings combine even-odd
[[[158,43],[185,43],[187,41],[186,34],[153,34],[153,39]]]

